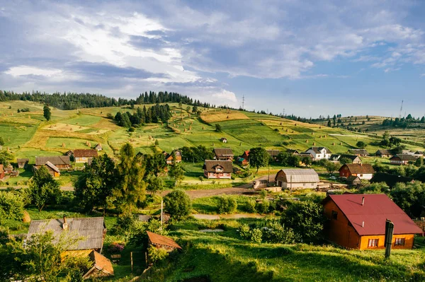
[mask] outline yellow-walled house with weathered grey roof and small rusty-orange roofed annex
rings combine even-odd
[[[85,272],[84,278],[113,275],[111,261],[101,254],[103,240],[106,235],[106,225],[103,217],[64,217],[63,219],[31,221],[26,240],[28,242],[33,235],[45,233],[49,230],[52,231],[55,242],[58,242],[61,236],[70,236],[70,239],[81,238],[76,244],[68,246],[66,251],[61,255],[89,257],[92,265]]]

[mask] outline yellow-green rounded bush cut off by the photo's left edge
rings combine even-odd
[[[23,218],[23,199],[14,192],[0,192],[0,218],[16,219]]]

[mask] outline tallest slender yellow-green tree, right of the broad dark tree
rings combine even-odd
[[[119,182],[114,189],[121,210],[129,212],[146,199],[145,164],[140,155],[135,155],[135,149],[130,143],[125,143],[120,149],[120,163],[117,165]]]

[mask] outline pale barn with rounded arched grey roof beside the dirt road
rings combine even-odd
[[[276,184],[284,189],[316,189],[319,175],[314,170],[279,170]]]

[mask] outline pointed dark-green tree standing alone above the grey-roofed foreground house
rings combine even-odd
[[[31,202],[38,211],[42,211],[46,204],[54,204],[60,194],[59,182],[53,179],[45,165],[35,170],[28,189]]]

